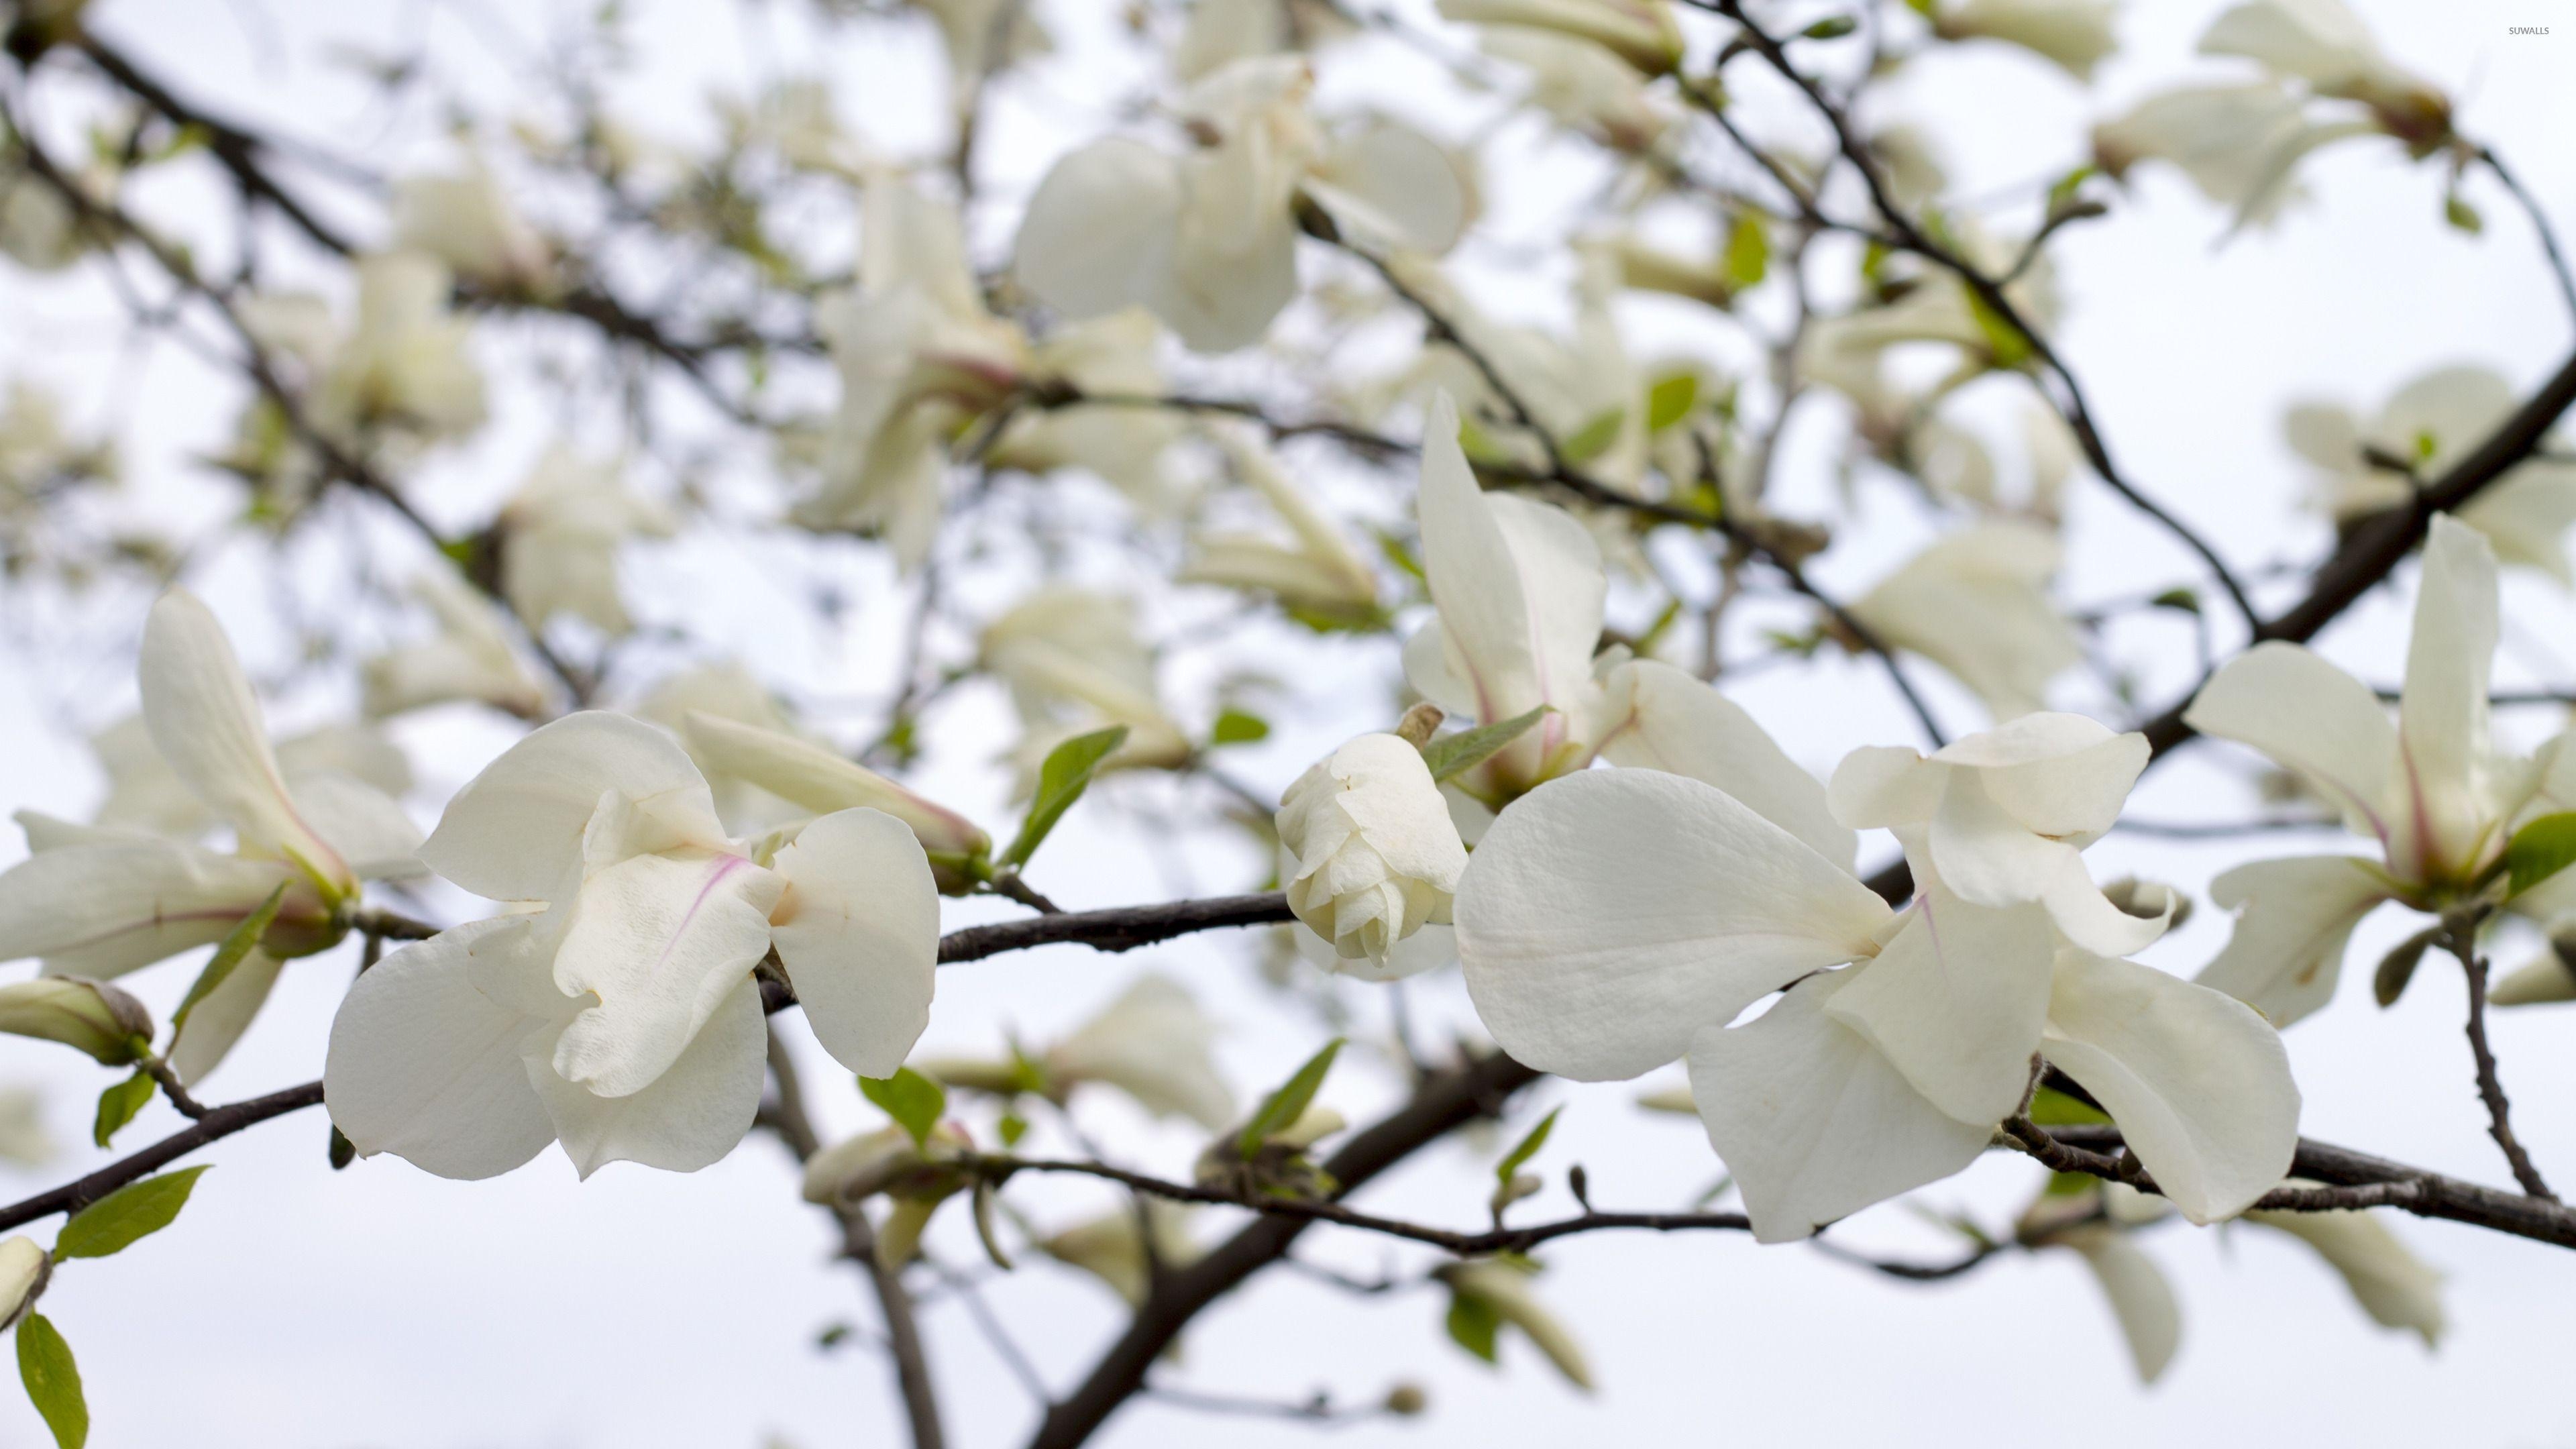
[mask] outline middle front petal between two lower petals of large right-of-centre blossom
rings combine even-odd
[[[1935,890],[1824,1008],[1950,1116],[1994,1127],[2030,1085],[2056,941],[2038,908]]]

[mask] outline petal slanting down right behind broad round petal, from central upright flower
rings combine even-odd
[[[1633,660],[1610,676],[1613,717],[1602,737],[1615,766],[1651,768],[1713,784],[1819,856],[1850,869],[1857,838],[1834,820],[1824,786],[1798,768],[1770,732],[1716,686],[1659,660]],[[1620,699],[1625,696],[1625,699]]]

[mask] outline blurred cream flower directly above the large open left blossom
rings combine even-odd
[[[551,446],[502,505],[495,521],[500,590],[528,629],[559,616],[585,619],[605,634],[634,629],[618,596],[618,547],[667,539],[677,521],[629,492],[618,472],[616,462]]]

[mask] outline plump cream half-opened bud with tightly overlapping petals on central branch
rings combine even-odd
[[[1342,959],[1386,969],[1396,941],[1450,918],[1466,846],[1422,753],[1396,735],[1360,735],[1298,776],[1278,830],[1296,861],[1288,910]]]

